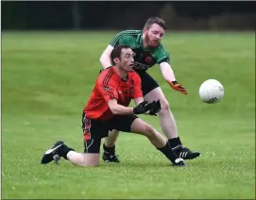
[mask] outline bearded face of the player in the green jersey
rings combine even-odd
[[[145,43],[148,47],[157,47],[164,35],[162,26],[153,24],[149,29],[144,29]]]

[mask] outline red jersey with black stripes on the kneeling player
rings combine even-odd
[[[131,99],[143,97],[141,88],[141,77],[137,73],[128,72],[124,81],[114,67],[107,68],[97,77],[94,91],[84,108],[86,116],[101,121],[111,119],[113,114],[108,101],[116,99],[118,104],[128,107]]]

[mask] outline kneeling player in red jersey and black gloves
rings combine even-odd
[[[47,164],[59,163],[65,158],[81,166],[98,166],[100,142],[109,131],[142,134],[175,166],[186,166],[169,146],[161,133],[146,124],[137,114],[156,115],[161,110],[160,101],[144,101],[141,78],[133,71],[134,53],[128,45],[117,45],[111,52],[114,66],[104,70],[97,78],[94,91],[83,110],[82,128],[84,153],[77,153],[64,142],[58,141],[47,150],[41,160]],[[128,107],[134,99],[136,107]]]

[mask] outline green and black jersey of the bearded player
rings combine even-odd
[[[135,61],[147,64],[150,66],[156,63],[170,61],[169,55],[160,43],[155,48],[145,49],[142,42],[143,32],[141,30],[125,30],[118,33],[111,41],[111,46],[117,44],[127,44],[132,51],[136,53]]]

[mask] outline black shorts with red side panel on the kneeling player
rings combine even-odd
[[[102,138],[109,136],[109,131],[116,129],[130,132],[130,125],[138,118],[136,115],[115,115],[108,121],[99,121],[82,114],[82,129],[84,141],[84,153],[99,153]]]

